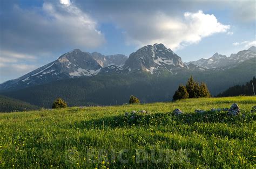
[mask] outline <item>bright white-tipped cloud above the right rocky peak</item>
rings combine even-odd
[[[140,17],[136,13],[131,21],[132,23],[124,22],[120,25],[126,30],[128,44],[143,46],[163,43],[173,50],[198,43],[202,38],[230,29],[230,25],[219,23],[214,15],[205,14],[201,10],[196,13],[185,12],[181,19],[167,16],[163,12],[147,17]]]

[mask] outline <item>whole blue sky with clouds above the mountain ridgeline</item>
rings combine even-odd
[[[1,0],[0,83],[79,48],[129,56],[162,43],[184,62],[256,46],[256,2]]]

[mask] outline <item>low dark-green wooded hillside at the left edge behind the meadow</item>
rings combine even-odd
[[[0,112],[38,110],[39,107],[14,98],[0,95]]]

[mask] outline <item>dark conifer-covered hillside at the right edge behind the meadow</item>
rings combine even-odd
[[[253,85],[252,85],[253,83]],[[254,87],[254,90],[253,90]],[[253,79],[250,82],[247,82],[245,85],[235,85],[233,87],[228,88],[227,90],[223,91],[222,93],[218,94],[218,97],[227,97],[227,96],[239,96],[239,95],[246,95],[246,96],[253,96],[256,91],[256,79]]]

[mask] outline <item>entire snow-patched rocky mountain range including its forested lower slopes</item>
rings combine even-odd
[[[1,94],[50,107],[62,97],[70,105],[121,104],[134,94],[143,102],[168,101],[190,75],[218,94],[256,74],[255,47],[184,63],[163,44],[147,45],[130,54],[105,56],[73,50],[35,71],[0,85]],[[107,98],[108,97],[108,98]]]

